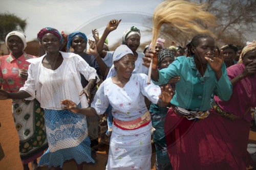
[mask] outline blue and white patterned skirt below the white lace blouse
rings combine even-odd
[[[49,149],[41,156],[39,166],[62,167],[71,159],[77,164],[94,163],[86,116],[69,110],[45,109],[45,123]]]

